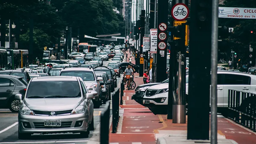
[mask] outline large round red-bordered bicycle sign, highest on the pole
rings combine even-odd
[[[172,17],[175,20],[186,20],[188,18],[188,6],[183,3],[175,4],[171,11]]]

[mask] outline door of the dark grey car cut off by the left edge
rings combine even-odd
[[[15,90],[14,82],[9,78],[0,77],[0,106],[7,104],[7,100]]]

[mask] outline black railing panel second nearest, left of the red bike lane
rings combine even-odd
[[[119,93],[120,88],[116,88],[112,93],[112,133],[116,133],[119,121]]]

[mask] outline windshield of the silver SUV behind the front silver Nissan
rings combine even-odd
[[[94,81],[95,77],[92,71],[62,71],[60,76],[78,76],[84,81]]]

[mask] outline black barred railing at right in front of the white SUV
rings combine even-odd
[[[228,90],[228,118],[256,132],[256,94]]]

